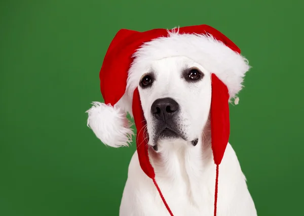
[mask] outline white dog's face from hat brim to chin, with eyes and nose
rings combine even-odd
[[[148,144],[184,141],[196,145],[210,111],[210,73],[186,57],[157,60],[145,68],[137,87]]]

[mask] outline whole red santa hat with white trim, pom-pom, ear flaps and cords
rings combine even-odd
[[[230,135],[229,102],[242,88],[249,70],[240,49],[226,36],[208,25],[178,29],[153,29],[145,32],[121,29],[113,38],[100,70],[100,89],[104,103],[94,102],[87,111],[88,126],[104,143],[112,147],[128,145],[132,129],[127,113],[134,118],[136,145],[143,172],[153,180],[169,213],[173,215],[155,180],[148,157],[145,118],[137,84],[144,63],[166,57],[184,56],[211,73],[211,143],[216,164],[214,215],[217,206],[218,169]],[[142,68],[144,70],[144,68]]]

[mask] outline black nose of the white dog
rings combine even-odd
[[[165,123],[168,119],[171,119],[177,111],[178,103],[170,97],[157,99],[151,105],[151,113]]]

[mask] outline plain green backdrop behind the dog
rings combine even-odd
[[[258,215],[302,215],[302,2],[1,1],[0,215],[118,215],[135,144],[104,146],[85,113],[106,49],[121,28],[198,24],[252,66],[230,141]]]

